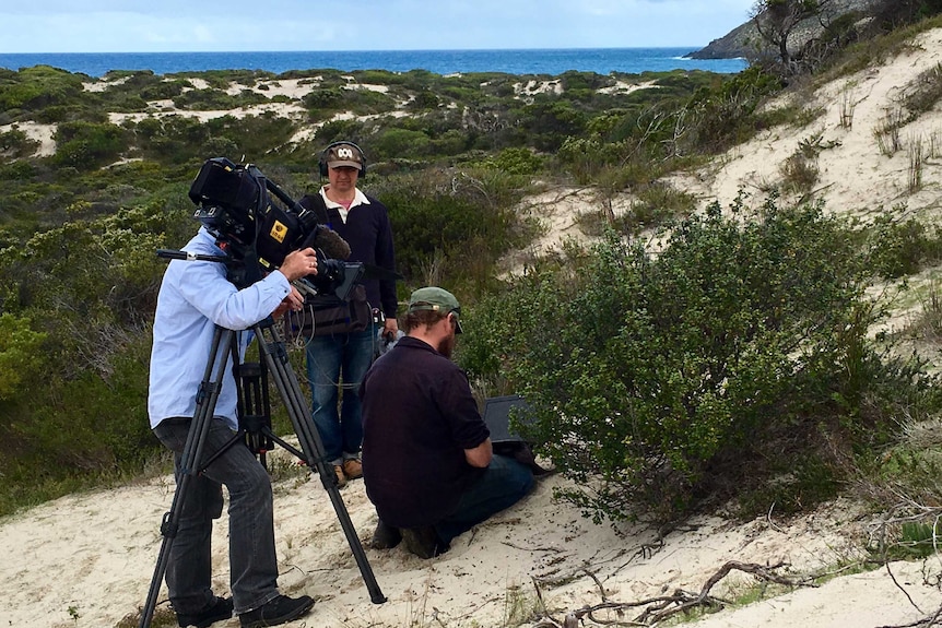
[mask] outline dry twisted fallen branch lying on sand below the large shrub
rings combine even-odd
[[[647,600],[639,600],[637,602],[604,601],[605,595],[604,591],[602,591],[602,603],[592,606],[584,606],[578,611],[573,611],[568,613],[562,621],[546,615],[545,617],[540,619],[540,621],[537,623],[534,628],[550,628],[551,626],[554,628],[576,628],[576,626],[578,626],[578,624],[582,620],[584,617],[596,624],[605,626],[656,626],[668,617],[676,615],[678,613],[687,613],[693,608],[703,607],[719,609],[726,606],[728,602],[710,595],[709,592],[720,580],[726,578],[731,571],[744,571],[746,573],[752,573],[760,580],[775,582],[777,584],[785,584],[788,586],[814,586],[814,584],[806,580],[792,580],[775,573],[776,569],[780,569],[786,566],[786,562],[764,566],[730,560],[729,562],[723,565],[719,569],[719,571],[711,576],[709,580],[706,581],[699,593],[691,593],[688,591],[678,589],[672,595],[649,597]],[[590,573],[589,576],[591,577],[592,574]],[[600,589],[602,589],[599,581],[594,577],[592,579],[596,580],[596,583],[599,584]],[[537,586],[537,595],[540,597],[540,601],[542,603],[542,593],[540,592],[539,586]],[[644,607],[641,613],[631,620],[604,619],[596,615],[601,611],[607,611],[614,612],[621,617],[628,608],[641,607]]]

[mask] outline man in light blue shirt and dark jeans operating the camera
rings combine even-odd
[[[205,226],[184,250],[225,254]],[[228,281],[225,263],[169,262],[154,317],[148,411],[154,434],[174,451],[177,484],[207,360],[213,357],[215,325],[246,330],[269,315],[299,309],[302,295],[290,282],[316,272],[317,256],[310,248],[292,251],[279,270],[242,289]],[[240,358],[250,335],[236,334]],[[237,395],[232,369],[226,369],[204,446],[208,457],[222,453],[191,478],[167,560],[169,599],[181,627],[204,628],[232,617],[233,611],[243,628],[275,626],[301,617],[314,604],[307,595],[292,599],[279,592],[271,481],[249,448],[226,447],[238,429]],[[222,485],[229,496],[232,599],[216,596],[211,589],[212,520],[222,514]]]

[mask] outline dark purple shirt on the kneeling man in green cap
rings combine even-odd
[[[402,337],[363,380],[363,479],[379,518],[396,528],[449,514],[483,470],[464,450],[490,436],[468,377],[413,337]]]

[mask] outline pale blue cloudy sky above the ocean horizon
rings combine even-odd
[[[8,0],[0,52],[702,47],[754,0]]]

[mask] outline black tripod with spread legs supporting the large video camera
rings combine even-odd
[[[255,384],[249,388],[244,388],[239,395],[240,414],[246,417],[247,423],[242,422],[239,433],[226,445],[226,447],[239,443],[243,437],[247,436],[247,445],[252,448],[255,453],[261,453],[271,449],[273,442],[278,442],[299,460],[305,462],[310,467],[311,473],[316,470],[320,475],[320,482],[323,485],[327,494],[330,496],[330,501],[340,520],[340,525],[350,544],[350,549],[353,552],[353,557],[356,560],[363,580],[366,583],[366,589],[369,591],[369,599],[374,604],[382,604],[386,602],[386,596],[379,590],[379,584],[373,574],[373,569],[366,559],[363,552],[363,545],[360,543],[360,537],[356,535],[356,530],[353,528],[353,522],[350,520],[350,513],[343,503],[340,496],[340,489],[337,485],[337,476],[333,473],[332,465],[328,464],[323,457],[323,445],[320,440],[320,435],[317,433],[314,422],[310,418],[310,413],[307,412],[307,404],[304,395],[301,392],[297,378],[287,359],[287,352],[284,342],[282,341],[278,330],[274,327],[274,321],[271,317],[256,323],[252,328],[256,334],[256,342],[259,344],[259,351],[263,359],[267,372],[270,372],[275,383],[275,388],[284,401],[291,423],[294,426],[302,451],[291,447],[283,440],[279,439],[271,431],[270,425],[266,420],[260,420],[264,413],[260,410],[262,405],[267,406],[268,392],[266,386],[259,386],[258,382],[263,378],[256,379]],[[190,424],[187,441],[184,446],[184,451],[180,461],[180,477],[177,489],[174,493],[174,500],[170,510],[164,514],[161,523],[161,534],[163,542],[161,552],[157,556],[157,564],[154,568],[154,576],[151,580],[151,589],[148,593],[148,601],[141,612],[140,628],[149,628],[151,619],[156,607],[157,595],[160,593],[161,583],[167,569],[167,560],[169,559],[170,548],[174,538],[176,537],[180,512],[182,509],[182,498],[187,494],[190,481],[200,474],[212,460],[220,454],[216,452],[209,460],[203,461],[203,446],[207,436],[209,435],[210,425],[213,418],[213,412],[219,401],[220,390],[222,389],[223,378],[225,376],[226,366],[228,363],[229,351],[233,352],[234,364],[239,364],[238,352],[235,348],[235,332],[232,330],[216,327],[213,335],[213,343],[210,353],[210,359],[207,363],[205,375],[200,386],[199,395],[197,398],[197,410]],[[256,374],[251,372],[254,367],[250,365],[242,365],[240,368],[248,369],[247,375],[251,380]],[[263,463],[262,459],[262,463]]]

